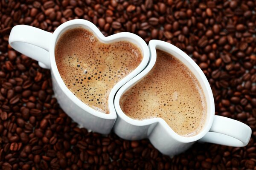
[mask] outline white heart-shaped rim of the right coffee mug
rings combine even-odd
[[[199,68],[199,66],[194,62],[194,60],[191,59],[185,52],[183,52],[182,50],[177,48],[175,45],[172,45],[168,42],[164,42],[164,41],[161,41],[161,40],[150,40],[149,44],[148,44],[148,48],[150,50],[151,55],[150,55],[150,60],[149,60],[149,63],[147,65],[147,67],[140,74],[138,74],[136,77],[134,77],[129,82],[127,82],[125,85],[123,85],[122,88],[120,88],[119,91],[116,94],[116,97],[114,99],[116,114],[119,117],[121,117],[121,119],[123,119],[125,122],[128,122],[129,124],[135,125],[135,126],[145,126],[145,125],[151,125],[151,124],[154,124],[154,123],[160,123],[170,136],[172,136],[174,139],[176,139],[177,141],[180,141],[180,142],[189,143],[189,142],[195,142],[195,141],[201,139],[203,136],[205,136],[209,132],[209,130],[212,126],[212,123],[213,123],[214,115],[215,115],[214,98],[213,98],[212,90],[210,88],[210,85],[209,85],[209,82],[208,82],[206,76],[204,75],[201,68]],[[165,48],[165,49],[163,49],[163,48]],[[129,88],[131,88],[137,82],[139,82],[141,79],[143,79],[143,77],[145,77],[151,71],[151,69],[153,68],[153,66],[156,62],[156,59],[157,59],[156,49],[161,49],[161,50],[163,50],[167,53],[170,53],[170,51],[175,52],[176,54],[179,55],[179,57],[182,57],[183,59],[185,59],[195,69],[197,74],[199,74],[201,79],[202,79],[202,81],[200,81],[198,79],[198,77],[196,76],[196,78],[198,79],[198,82],[200,83],[200,85],[203,89],[204,96],[205,96],[206,100],[208,100],[208,103],[207,103],[207,119],[205,120],[205,124],[204,124],[202,130],[195,136],[185,137],[185,136],[178,135],[160,117],[151,118],[151,119],[144,119],[144,120],[131,119],[130,117],[125,115],[125,113],[122,111],[122,109],[120,107],[119,102],[120,102],[121,96],[126,91],[128,91]],[[166,49],[168,49],[168,50],[166,50]],[[186,65],[185,63],[183,63],[183,64]],[[194,72],[192,71],[192,73],[194,74],[195,71]],[[206,90],[204,91],[204,89],[206,89]]]

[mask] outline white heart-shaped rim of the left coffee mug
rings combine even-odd
[[[76,26],[77,25],[77,26]],[[108,109],[109,113],[102,113],[100,111],[97,111],[90,106],[86,105],[84,102],[82,102],[77,96],[75,96],[65,85],[63,79],[61,78],[61,75],[58,71],[57,64],[55,61],[55,45],[58,42],[58,38],[61,36],[61,34],[65,31],[65,28],[74,26],[76,27],[88,27],[89,31],[95,35],[100,42],[103,43],[111,43],[111,41],[114,41],[116,39],[122,39],[122,38],[128,38],[128,39],[134,39],[138,44],[140,44],[140,50],[143,54],[143,59],[140,62],[140,64],[135,68],[130,74],[123,77],[119,82],[117,82],[113,88],[110,91],[110,94],[108,95]],[[55,31],[52,34],[52,40],[50,40],[49,44],[49,58],[50,58],[50,65],[51,65],[51,73],[54,75],[56,82],[58,83],[59,87],[61,88],[61,91],[64,92],[64,94],[67,95],[67,97],[72,100],[76,105],[78,105],[80,108],[82,108],[84,111],[87,111],[87,113],[90,113],[94,116],[97,116],[102,119],[116,119],[116,111],[114,108],[114,95],[119,90],[119,88],[122,87],[126,82],[128,82],[131,77],[135,77],[137,74],[142,71],[145,66],[147,65],[149,61],[149,49],[145,41],[137,36],[136,34],[129,33],[129,32],[120,32],[117,34],[110,35],[108,37],[105,37],[101,31],[90,21],[83,20],[83,19],[75,19],[75,20],[69,20],[65,23],[62,23],[58,28],[55,29]],[[111,98],[113,98],[113,101],[111,101]]]

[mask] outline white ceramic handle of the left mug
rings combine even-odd
[[[50,69],[49,43],[52,33],[32,26],[17,25],[12,28],[9,44],[16,51],[38,61],[42,68]]]

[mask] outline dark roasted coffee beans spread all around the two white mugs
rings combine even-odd
[[[128,31],[186,52],[204,71],[215,114],[249,125],[246,147],[194,144],[170,158],[150,142],[76,127],[52,97],[50,71],[8,45],[13,26],[54,31],[75,18],[105,36]],[[256,170],[255,0],[0,0],[1,170]]]

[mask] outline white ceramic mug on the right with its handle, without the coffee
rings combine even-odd
[[[148,138],[161,153],[173,156],[188,149],[196,141],[224,144],[228,146],[242,147],[248,144],[251,136],[249,126],[239,121],[215,116],[214,99],[209,82],[198,65],[183,51],[172,44],[159,40],[151,40],[148,45],[151,53],[148,66],[136,77],[127,82],[117,92],[114,105],[117,119],[113,127],[115,133],[121,138],[138,140]],[[165,51],[183,62],[195,75],[200,83],[207,102],[207,119],[203,130],[195,136],[183,137],[175,133],[171,127],[161,118],[146,120],[134,120],[123,113],[119,105],[122,94],[135,85],[153,68],[157,54],[156,49]]]

